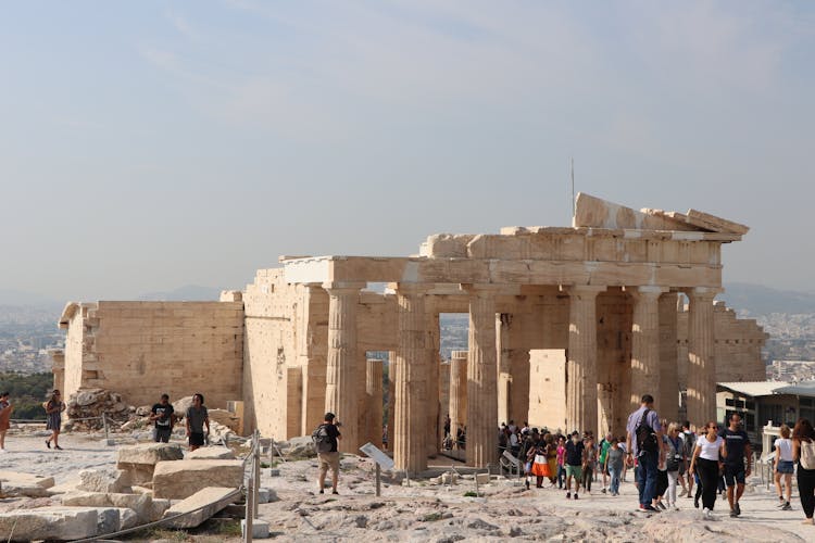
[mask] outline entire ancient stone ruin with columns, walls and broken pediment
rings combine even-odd
[[[448,413],[479,467],[496,460],[499,416],[622,433],[650,393],[662,416],[702,424],[717,380],[764,376],[764,332],[714,304],[722,244],[747,231],[579,194],[568,228],[435,235],[416,256],[283,256],[220,303],[68,304],[55,380],[131,404],[192,389],[210,405],[242,401],[244,428],[276,439],[331,411],[347,452],[381,442],[387,395],[393,457],[410,472],[438,452]],[[449,364],[443,313],[469,315],[468,350]],[[389,353],[387,393],[372,352]]]

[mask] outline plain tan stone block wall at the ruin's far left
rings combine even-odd
[[[146,405],[201,392],[226,407],[241,396],[243,310],[240,302],[98,302],[74,304],[67,329],[65,391],[102,388]]]

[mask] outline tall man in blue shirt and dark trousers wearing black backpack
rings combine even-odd
[[[628,416],[626,425],[626,451],[629,463],[637,458],[637,490],[640,494],[639,510],[659,513],[651,505],[656,490],[656,470],[660,464],[660,453],[665,446],[662,440],[660,417],[654,411],[654,397],[643,394],[640,408]]]

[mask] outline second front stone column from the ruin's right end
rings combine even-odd
[[[651,394],[655,402],[660,393],[660,295],[662,287],[636,287],[628,292],[634,299],[631,318],[631,405],[640,406],[643,394]],[[660,404],[654,405],[660,413]]]

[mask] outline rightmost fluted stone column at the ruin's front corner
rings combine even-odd
[[[716,363],[714,358],[713,299],[718,290],[698,287],[687,294],[688,419],[701,427],[716,419]]]

